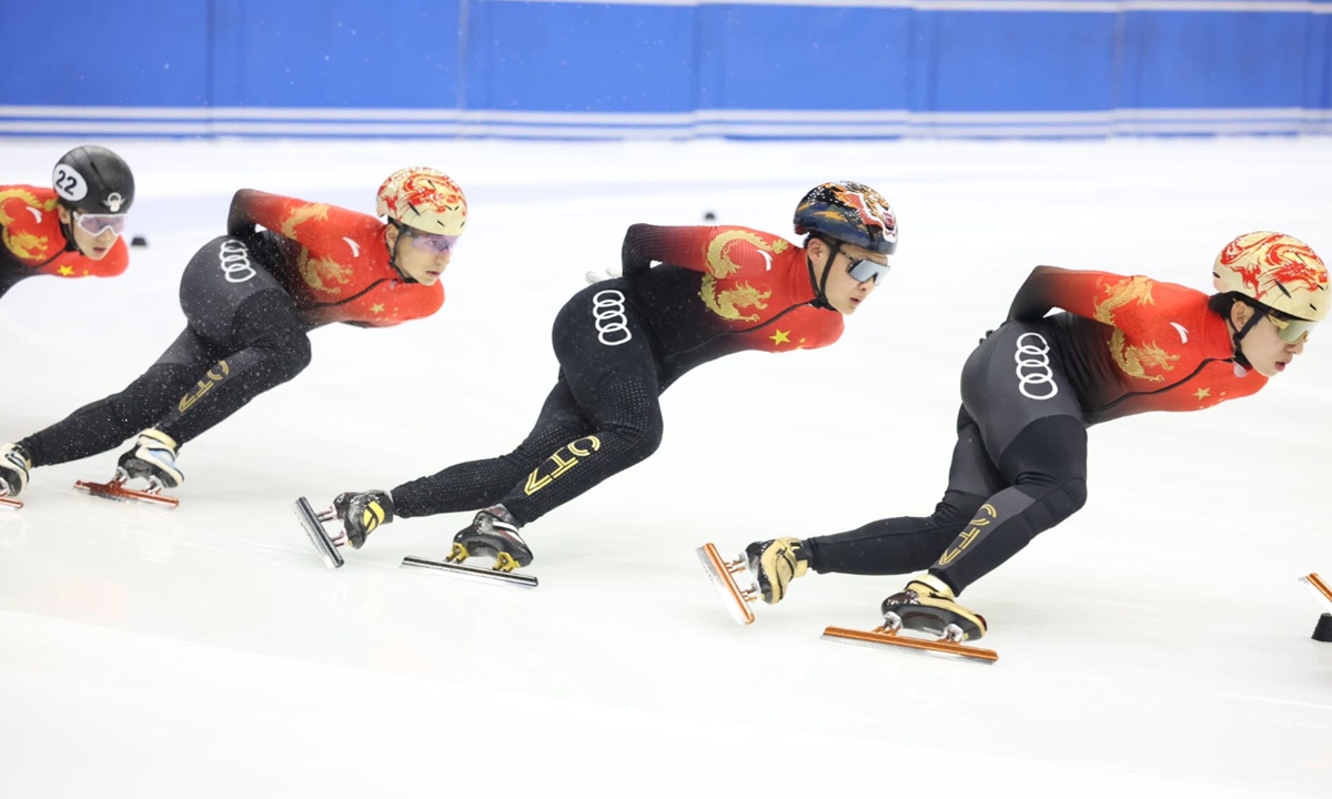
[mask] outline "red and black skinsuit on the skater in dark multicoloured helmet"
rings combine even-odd
[[[842,314],[814,306],[805,250],[770,233],[634,225],[622,264],[622,278],[574,294],[555,317],[559,378],[527,438],[507,455],[393,489],[398,515],[502,503],[533,522],[653,454],[658,397],[690,369],[842,336]]]

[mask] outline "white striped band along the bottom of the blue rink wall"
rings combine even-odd
[[[168,113],[163,113],[166,111]],[[0,107],[0,136],[350,138],[986,138],[1332,134],[1320,109],[1074,113],[753,111],[682,115]]]

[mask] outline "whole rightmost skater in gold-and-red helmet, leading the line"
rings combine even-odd
[[[1217,293],[1208,296],[1038,266],[1008,321],[962,370],[958,443],[934,514],[751,543],[746,558],[763,599],[779,602],[809,570],[926,570],[884,601],[884,614],[907,629],[943,634],[956,625],[966,638],[983,635],[984,619],[956,595],[1083,506],[1088,426],[1248,397],[1304,352],[1328,313],[1327,268],[1289,236],[1240,236],[1212,274]]]

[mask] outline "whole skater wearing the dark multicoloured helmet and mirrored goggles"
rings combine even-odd
[[[454,537],[450,559],[494,557],[503,571],[530,563],[519,527],[657,450],[667,386],[730,353],[835,342],[898,238],[888,204],[854,182],[809,192],[795,232],[807,234],[803,246],[749,228],[631,226],[623,277],[583,289],[555,317],[559,377],[527,438],[392,491],[340,495],[337,543],[360,549],[394,517],[485,509]]]

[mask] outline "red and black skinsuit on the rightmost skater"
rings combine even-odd
[[[1087,501],[1087,427],[1203,410],[1267,384],[1236,369],[1208,296],[1146,277],[1039,266],[962,372],[948,489],[930,517],[806,541],[817,571],[928,569],[955,591]],[[1052,308],[1063,313],[1046,317]],[[1243,373],[1243,376],[1241,376]]]

